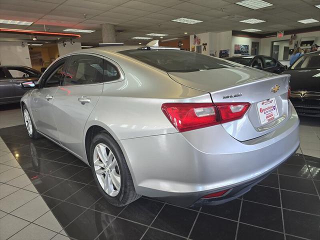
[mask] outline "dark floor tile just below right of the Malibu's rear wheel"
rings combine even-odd
[[[151,224],[164,203],[140,198],[130,203],[119,215],[145,225]]]

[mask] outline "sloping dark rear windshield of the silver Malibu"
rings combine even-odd
[[[167,72],[190,72],[234,66],[224,60],[183,50],[125,50],[120,53]]]

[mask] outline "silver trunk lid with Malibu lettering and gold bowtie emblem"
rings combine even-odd
[[[168,74],[180,84],[209,92],[214,103],[249,102],[251,105],[241,119],[221,124],[232,137],[240,141],[256,138],[274,130],[291,114],[287,100],[290,79],[288,74],[275,75],[245,66]],[[278,89],[272,92],[271,88],[276,85],[279,86]],[[267,99],[272,100],[270,104],[275,102],[277,115],[261,122],[258,111],[261,101],[264,104]],[[266,120],[265,117],[262,119]]]

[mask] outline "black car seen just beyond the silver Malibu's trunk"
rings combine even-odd
[[[263,71],[268,71],[272,73],[281,73],[283,72],[287,66],[283,65],[278,60],[274,59],[271,56],[264,55],[246,55],[246,56],[232,56],[225,58],[229,61],[234,61],[236,63],[240,63],[242,65],[251,66]]]

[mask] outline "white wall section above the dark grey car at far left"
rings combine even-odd
[[[31,60],[27,42],[0,42],[1,65],[23,65],[31,67]]]

